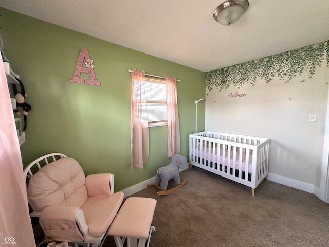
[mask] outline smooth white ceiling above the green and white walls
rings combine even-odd
[[[329,0],[249,0],[239,21],[224,0],[0,0],[0,6],[208,72],[329,40]]]

